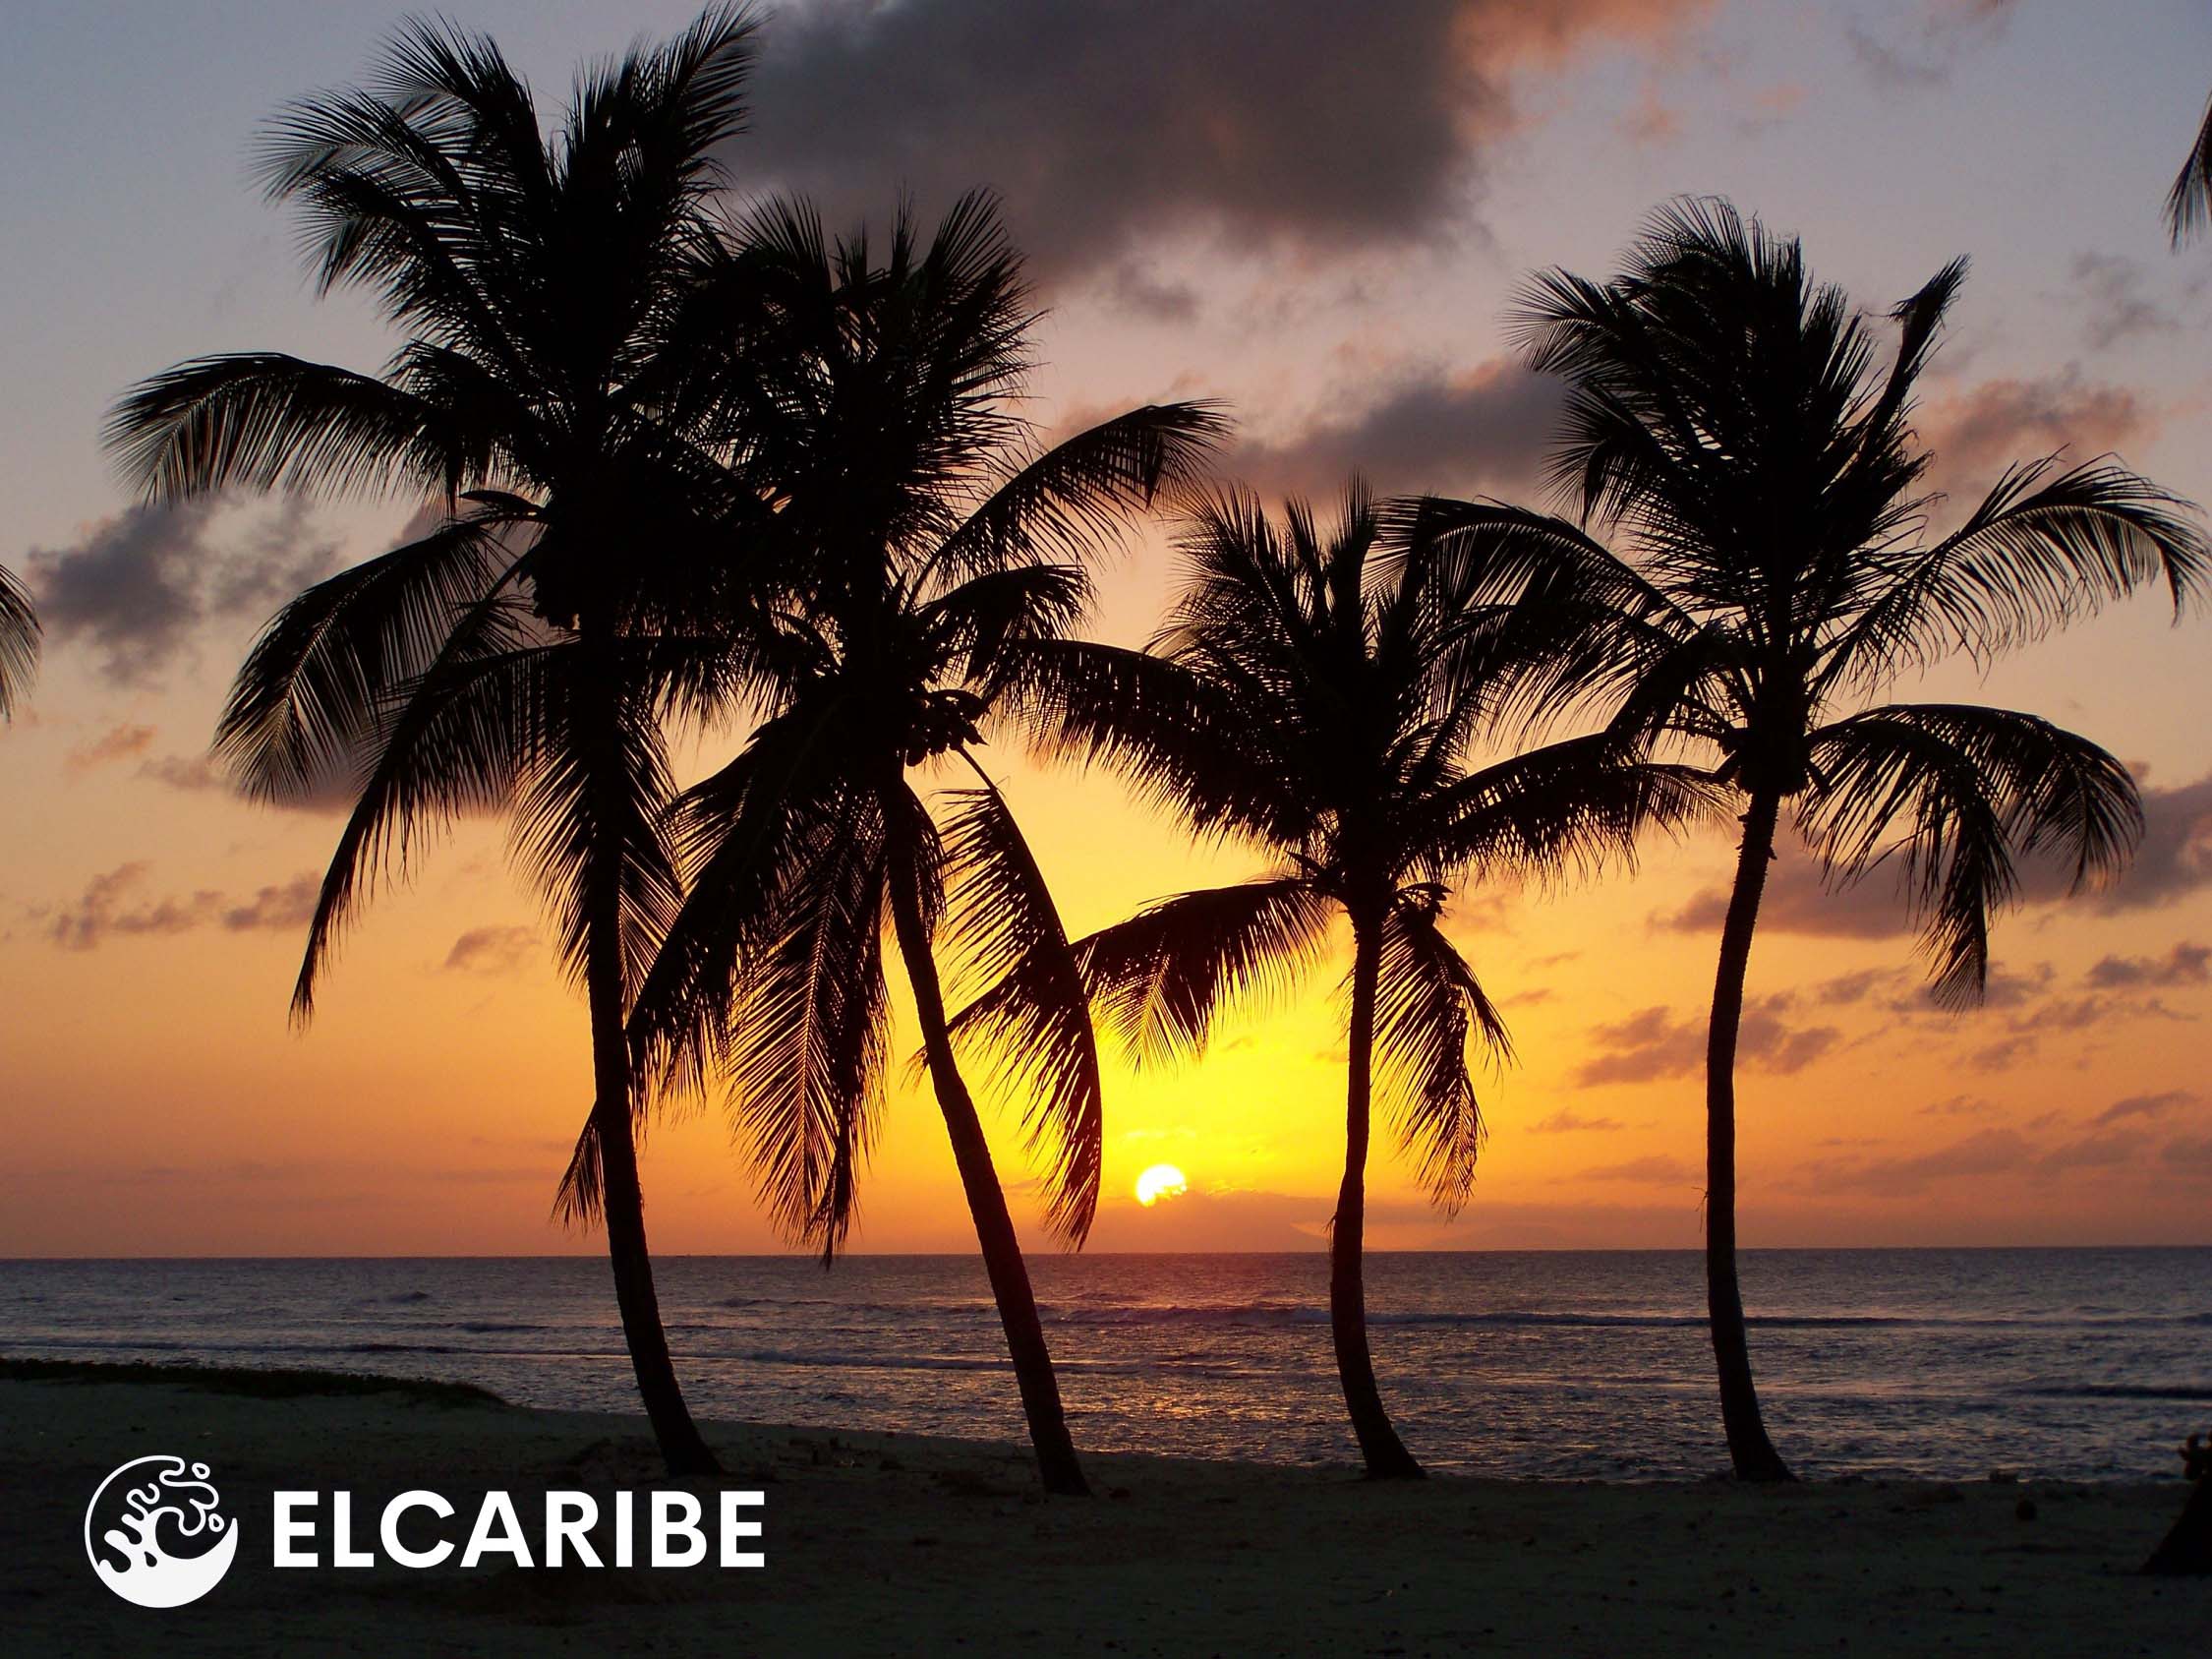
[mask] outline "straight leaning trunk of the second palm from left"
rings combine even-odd
[[[922,1022],[929,1082],[938,1091],[938,1108],[945,1113],[945,1128],[953,1141],[953,1161],[960,1166],[960,1186],[967,1190],[969,1214],[975,1217],[975,1243],[982,1245],[982,1265],[991,1274],[991,1296],[998,1298],[998,1318],[1006,1327],[1006,1352],[1013,1356],[1013,1376],[1022,1387],[1022,1413],[1029,1418],[1029,1442],[1037,1449],[1037,1473],[1044,1475],[1048,1493],[1088,1498],[1091,1486],[1075,1458],[1075,1440],[1068,1436],[1068,1418],[1060,1405],[1053,1354],[1044,1345],[1037,1296],[1029,1287],[1022,1241],[1013,1232],[1013,1217],[1006,1214],[1006,1194],[998,1186],[998,1170],[991,1168],[991,1146],[984,1141],[975,1102],[953,1064],[945,991],[929,951],[929,929],[922,925],[914,854],[909,847],[898,847],[891,858],[891,927],[907,962],[907,978],[914,982],[914,1009]]]

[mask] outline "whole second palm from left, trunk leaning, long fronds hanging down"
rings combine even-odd
[[[1040,451],[1009,409],[1033,314],[987,197],[960,201],[927,241],[902,210],[880,261],[865,234],[830,243],[812,210],[772,206],[743,257],[776,341],[743,378],[739,416],[776,504],[759,538],[776,597],[732,641],[730,675],[759,723],[675,805],[690,898],[639,993],[635,1060],[653,1079],[730,1075],[765,1203],[827,1263],[854,1219],[889,1066],[889,927],[1044,1484],[1082,1493],[933,949],[949,933],[980,973],[1033,993],[1015,1071],[1046,1159],[1046,1221],[1082,1243],[1102,1150],[1088,1006],[1035,858],[973,750],[1009,650],[1079,617],[1086,555],[1190,476],[1223,422],[1199,405],[1144,407]],[[975,776],[945,825],[909,783],[942,761]],[[568,1197],[593,1201],[588,1183]]]

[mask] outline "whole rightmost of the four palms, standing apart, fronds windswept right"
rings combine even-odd
[[[1705,1285],[1728,1451],[1787,1480],[1759,1413],[1736,1285],[1736,1033],[1783,810],[1832,885],[1896,869],[1944,1006],[1980,1000],[1989,922],[2017,858],[2059,854],[2079,887],[2141,832],[2126,768],[2033,714],[1863,706],[1898,675],[2000,650],[2163,582],[2177,615],[2205,577],[2188,507],[2108,458],[2008,467],[1936,540],[1913,383],[1964,261],[1867,321],[1814,283],[1794,239],[1723,201],[1657,212],[1608,283],[1548,272],[1522,312],[1528,361],[1568,385],[1555,478],[1582,522],[1431,504],[1436,533],[1520,542],[1579,588],[1608,644],[1562,679],[1619,699],[1615,730],[1705,750],[1743,807],[1705,1048]],[[1599,524],[1624,546],[1586,533]],[[1593,635],[1593,637],[1595,637]],[[1562,635],[1564,637],[1564,635]]]

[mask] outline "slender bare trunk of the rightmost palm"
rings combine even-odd
[[[1754,794],[1743,814],[1736,885],[1721,922],[1721,969],[1712,984],[1712,1029],[1705,1040],[1705,1303],[1712,1310],[1712,1358],[1721,1371],[1721,1425],[1736,1480],[1794,1480],[1767,1440],[1752,1383],[1752,1347],[1743,1329],[1736,1283],[1736,1033],[1743,1026],[1743,975],[1752,962],[1759,896],[1774,856],[1781,796]]]

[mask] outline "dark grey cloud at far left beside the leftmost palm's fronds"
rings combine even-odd
[[[219,498],[128,507],[71,546],[33,546],[24,566],[46,635],[97,650],[117,686],[150,686],[201,624],[259,622],[336,568],[336,544],[314,538],[301,500],[221,542],[219,513]]]

